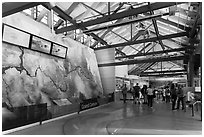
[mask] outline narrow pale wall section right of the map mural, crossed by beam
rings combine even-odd
[[[98,64],[115,62],[115,49],[95,51]],[[103,91],[105,94],[115,92],[115,66],[99,67]]]

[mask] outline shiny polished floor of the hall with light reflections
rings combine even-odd
[[[172,111],[171,104],[155,101],[153,108],[128,101],[113,102],[80,114],[10,133],[13,135],[202,134],[199,112]]]

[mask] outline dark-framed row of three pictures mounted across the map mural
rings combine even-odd
[[[68,48],[50,40],[30,34],[13,26],[3,24],[3,42],[25,47],[52,56],[66,58]]]

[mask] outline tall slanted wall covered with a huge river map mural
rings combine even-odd
[[[64,105],[103,96],[92,49],[50,29],[24,14],[3,18],[3,23],[68,47],[66,59],[2,43],[2,102],[10,107],[39,103]],[[13,40],[18,34],[13,34]]]

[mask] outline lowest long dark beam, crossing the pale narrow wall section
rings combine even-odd
[[[137,60],[127,60],[127,61],[122,61],[122,62],[104,63],[104,64],[98,64],[98,66],[106,67],[106,66],[131,65],[131,64],[161,62],[161,61],[183,60],[185,58],[187,58],[187,56],[174,56],[174,57],[168,56],[168,57],[146,58],[146,59],[137,59]]]

